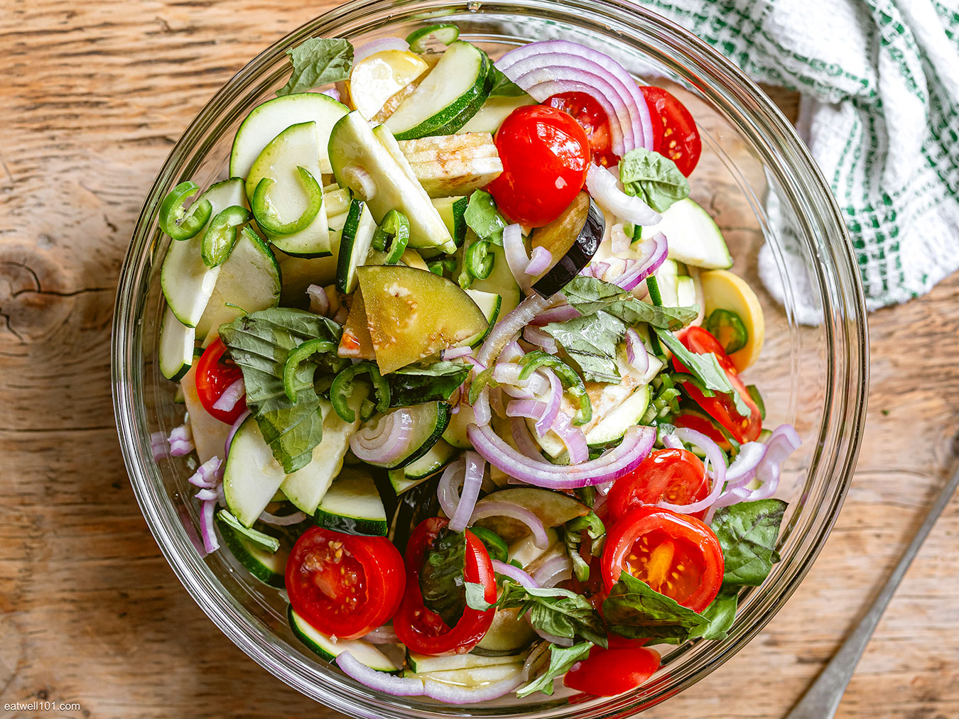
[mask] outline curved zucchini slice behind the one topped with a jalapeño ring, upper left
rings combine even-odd
[[[270,140],[292,125],[309,122],[316,123],[320,170],[324,174],[330,173],[330,161],[326,155],[330,130],[347,112],[349,108],[345,104],[318,92],[297,92],[257,105],[246,116],[233,138],[230,176],[246,177]],[[319,177],[316,179],[318,181]]]

